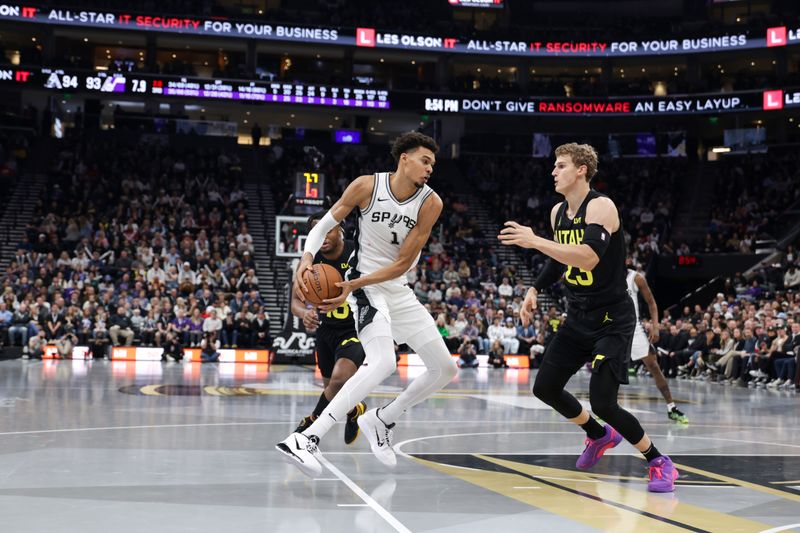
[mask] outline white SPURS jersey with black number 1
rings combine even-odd
[[[397,260],[400,245],[408,232],[417,225],[422,204],[433,189],[424,185],[411,198],[401,202],[389,187],[389,173],[375,174],[372,198],[364,210],[359,210],[355,235],[355,250],[350,259],[348,279],[371,274]],[[417,266],[419,255],[414,260]],[[406,284],[405,273],[389,283]]]

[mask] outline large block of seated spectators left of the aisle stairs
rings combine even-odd
[[[269,347],[237,157],[158,140],[61,145],[2,275],[0,341]],[[178,351],[179,353],[179,351]]]

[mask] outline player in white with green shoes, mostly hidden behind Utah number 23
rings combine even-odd
[[[642,361],[645,368],[650,372],[650,375],[653,376],[656,387],[661,391],[661,395],[664,396],[664,400],[667,402],[667,416],[669,419],[680,422],[681,424],[688,424],[689,419],[675,406],[675,402],[672,400],[672,392],[669,390],[669,385],[667,384],[667,378],[664,377],[664,374],[661,372],[661,367],[658,366],[658,361],[656,360],[656,352],[653,343],[658,342],[659,336],[658,306],[656,305],[656,299],[653,297],[653,292],[650,290],[650,286],[647,284],[647,280],[644,279],[644,276],[631,268],[628,268],[627,282],[628,293],[631,295],[633,307],[636,310],[636,329],[633,332],[631,361]],[[651,325],[649,337],[645,334],[644,326],[642,326],[639,317],[640,293],[650,311]]]

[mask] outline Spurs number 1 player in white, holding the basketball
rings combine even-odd
[[[397,170],[357,178],[308,234],[295,276],[295,292],[303,300],[307,292],[303,272],[311,268],[325,234],[357,209],[350,270],[347,279],[337,284],[342,295],[325,300],[319,309],[336,309],[347,299],[350,308],[356,310],[356,329],[366,359],[313,424],[276,445],[307,475],[322,473],[317,448],[320,438],[395,371],[395,340],[417,352],[427,369],[394,401],[358,418],[372,452],[384,465],[393,467],[397,463],[392,450],[395,421],[456,375],[458,367],[433,318],[405,278],[406,272],[416,267],[442,211],[441,198],[427,185],[437,150],[436,142],[426,135],[401,135],[392,145]]]

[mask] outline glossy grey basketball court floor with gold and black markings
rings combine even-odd
[[[316,403],[308,368],[3,361],[2,531],[800,531],[800,395],[670,381],[680,426],[632,378],[621,403],[681,472],[656,495],[626,443],[576,471],[583,435],[531,378],[461,370],[397,424],[394,471],[335,427],[312,481],[273,451]],[[585,399],[588,376],[569,388]]]

